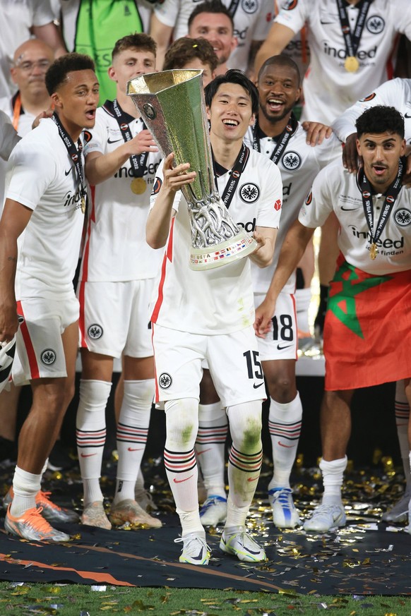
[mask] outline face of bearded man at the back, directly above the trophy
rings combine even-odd
[[[189,37],[208,40],[213,45],[219,64],[225,64],[237,47],[232,23],[224,13],[198,13],[190,24]]]

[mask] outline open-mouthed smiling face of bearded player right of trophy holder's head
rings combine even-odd
[[[294,107],[301,96],[297,72],[290,66],[269,64],[258,77],[260,111],[271,122],[278,122]]]

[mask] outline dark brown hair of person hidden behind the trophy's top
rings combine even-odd
[[[208,64],[212,73],[218,65],[218,57],[213,45],[208,40],[181,37],[167,49],[162,70],[169,71],[171,68],[183,68],[194,59],[200,60],[203,64]]]

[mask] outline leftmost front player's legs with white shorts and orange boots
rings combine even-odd
[[[18,361],[13,371],[17,382],[30,380],[32,407],[20,430],[13,500],[5,528],[29,540],[64,541],[68,535],[56,531],[46,516],[58,521],[76,521],[78,516],[54,505],[42,493],[40,483],[73,397],[78,303],[75,298],[66,302],[36,299],[19,303],[19,313],[25,322],[17,336]]]

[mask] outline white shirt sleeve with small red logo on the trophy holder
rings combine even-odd
[[[282,180],[280,169],[270,159],[263,157],[264,183],[258,200],[257,227],[278,229],[282,207]]]

